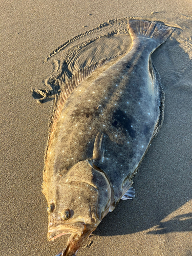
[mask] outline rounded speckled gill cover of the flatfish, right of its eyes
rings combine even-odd
[[[85,217],[91,211],[92,215],[95,214],[97,219],[101,221],[111,200],[111,187],[105,175],[95,169],[90,161],[85,160],[78,162],[70,169],[65,181],[66,184],[78,187],[79,193],[76,197],[82,215]],[[71,191],[71,193],[73,192]],[[88,209],[86,212],[88,205],[90,210]],[[73,211],[75,212],[75,209]]]

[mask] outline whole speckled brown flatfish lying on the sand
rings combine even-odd
[[[151,54],[173,28],[128,20],[129,52],[76,71],[60,89],[46,147],[42,193],[48,240],[71,234],[78,249],[118,202],[135,197],[133,177],[164,119],[164,92]]]

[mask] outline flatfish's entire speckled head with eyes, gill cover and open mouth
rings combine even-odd
[[[108,213],[111,187],[105,175],[88,160],[78,162],[57,179],[48,202],[48,240],[70,233],[63,255],[75,255]]]

